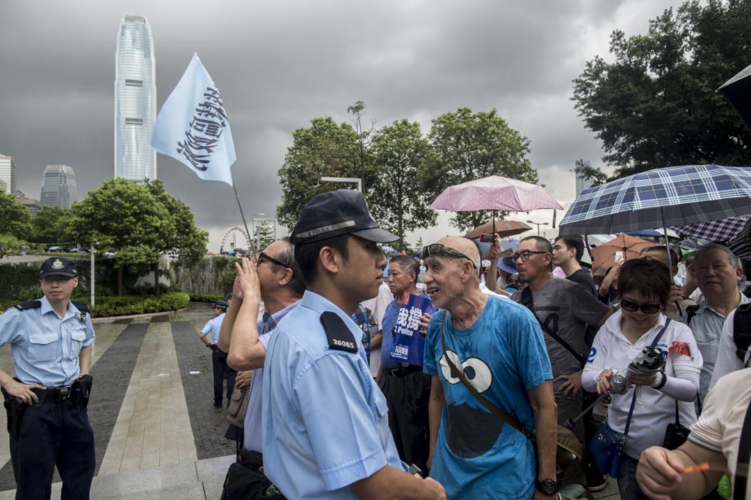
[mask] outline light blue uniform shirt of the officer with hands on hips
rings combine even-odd
[[[68,302],[61,319],[46,297],[41,307],[0,316],[0,347],[11,345],[16,377],[24,384],[44,387],[71,385],[78,379],[78,354],[95,339],[89,315]]]

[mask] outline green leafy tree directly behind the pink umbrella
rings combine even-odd
[[[446,187],[490,175],[538,182],[537,170],[526,157],[529,139],[509,127],[495,109],[472,113],[460,108],[440,115],[433,120],[428,139],[431,154],[422,182],[431,199]],[[466,230],[487,218],[487,211],[457,212],[451,223]]]

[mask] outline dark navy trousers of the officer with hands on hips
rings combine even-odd
[[[28,406],[20,435],[11,436],[11,463],[16,500],[50,499],[55,466],[62,500],[89,499],[96,459],[94,431],[83,405],[65,400]]]

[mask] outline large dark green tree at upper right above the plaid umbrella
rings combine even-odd
[[[596,183],[663,166],[751,163],[748,130],[715,90],[749,63],[751,2],[686,1],[650,20],[647,34],[611,34],[574,80],[575,109],[615,166],[577,172]]]

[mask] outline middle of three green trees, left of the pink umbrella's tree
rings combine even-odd
[[[419,180],[428,151],[420,124],[407,120],[383,127],[372,145],[377,180],[367,190],[373,200],[369,208],[375,220],[399,236],[399,250],[405,250],[407,232],[436,223],[436,211],[427,208],[431,196]]]

